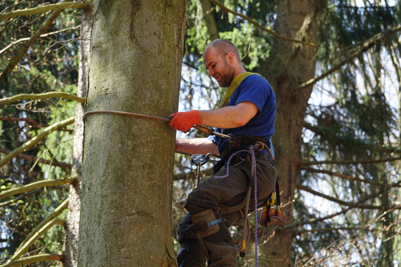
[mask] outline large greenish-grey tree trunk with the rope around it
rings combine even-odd
[[[178,108],[186,1],[95,1],[86,110]],[[117,114],[85,118],[78,266],[177,266],[175,131]]]

